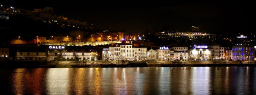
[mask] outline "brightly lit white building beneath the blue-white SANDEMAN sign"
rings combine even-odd
[[[190,60],[210,60],[211,59],[211,50],[208,49],[206,45],[194,45],[193,49],[189,51]]]

